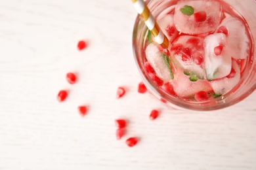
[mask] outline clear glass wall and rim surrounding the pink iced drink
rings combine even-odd
[[[175,4],[179,0],[149,0],[146,1],[148,9],[152,12],[155,18],[160,17],[171,9],[175,8]],[[240,1],[240,0],[219,0],[219,2],[228,3],[230,10],[235,10],[242,17],[245,18],[249,29],[251,30],[252,41],[252,55],[247,57],[247,65],[245,67],[244,74],[240,78],[240,82],[228,93],[225,93],[221,97],[209,99],[207,101],[188,101],[181,97],[175,97],[168,93],[163,92],[154,82],[152,82],[150,76],[146,73],[144,68],[144,38],[148,28],[144,24],[144,21],[138,15],[135,20],[133,29],[133,52],[135,56],[135,62],[139,69],[142,82],[144,82],[148,92],[154,97],[163,101],[167,106],[173,109],[181,110],[217,110],[229,107],[242,101],[249,94],[253,93],[256,88],[256,47],[254,40],[256,39],[256,3],[254,0]],[[226,4],[227,5],[227,4]],[[239,16],[239,17],[241,17]]]

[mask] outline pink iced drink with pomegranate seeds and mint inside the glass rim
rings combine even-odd
[[[246,21],[223,1],[178,1],[157,18],[163,49],[147,31],[144,67],[166,93],[207,101],[232,92],[246,76],[252,38]]]

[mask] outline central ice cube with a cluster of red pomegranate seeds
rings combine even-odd
[[[205,78],[203,69],[203,38],[181,35],[171,46],[171,58],[175,66],[184,71]]]

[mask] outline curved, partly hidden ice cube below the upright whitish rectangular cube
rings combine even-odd
[[[211,81],[211,86],[216,94],[227,93],[232,90],[232,88],[234,88],[236,84],[238,84],[240,80],[240,68],[238,66],[238,63],[234,59],[232,59],[232,68],[235,71],[234,75]]]

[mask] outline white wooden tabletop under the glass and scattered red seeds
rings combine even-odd
[[[1,170],[256,169],[256,93],[212,112],[167,109],[138,93],[136,16],[129,0],[0,0]],[[118,86],[127,88],[119,100]],[[69,96],[58,103],[62,89]],[[89,106],[87,116],[78,105]],[[152,109],[161,112],[155,121]],[[129,121],[120,141],[116,118]]]

